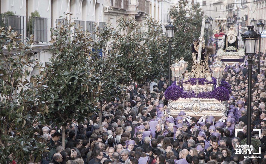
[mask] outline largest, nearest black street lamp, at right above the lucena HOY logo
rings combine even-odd
[[[251,79],[253,56],[256,53],[259,34],[256,33],[254,26],[247,26],[248,30],[241,34],[244,41],[245,53],[248,56],[248,87],[247,87],[247,145],[251,145]]]

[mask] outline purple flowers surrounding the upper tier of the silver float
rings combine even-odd
[[[194,78],[194,80],[196,80],[196,79]],[[194,80],[190,81],[191,84],[192,84],[192,82],[194,83]],[[205,81],[204,80],[201,79],[201,83],[199,81],[199,85],[204,85],[204,82],[207,81],[207,80],[205,80]],[[185,83],[187,83],[187,82],[188,81],[186,81]],[[209,84],[210,83],[213,83],[213,85],[215,87],[216,86],[216,79],[213,78],[213,81],[209,82]],[[196,84],[196,81],[195,81],[195,84]],[[195,85],[195,84],[192,84],[192,85]],[[229,94],[231,93],[230,88],[231,88],[231,86],[229,83],[227,83],[225,81],[221,81],[221,86],[214,88],[213,91],[200,92],[200,93],[198,93],[198,96],[196,96],[194,91],[186,92],[183,90],[182,87],[176,86],[175,82],[173,82],[172,85],[166,89],[164,95],[165,95],[165,98],[167,100],[177,100],[178,98],[215,98],[218,101],[226,101],[229,99]]]

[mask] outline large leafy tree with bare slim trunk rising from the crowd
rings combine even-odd
[[[42,72],[48,80],[44,100],[49,104],[47,121],[62,126],[63,147],[66,126],[92,115],[102,85],[93,75],[94,68],[89,66],[90,33],[80,26],[72,30],[74,25],[68,22],[51,29],[53,55]]]

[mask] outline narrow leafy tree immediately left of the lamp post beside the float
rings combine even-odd
[[[149,78],[160,78],[168,71],[168,42],[167,36],[163,33],[162,27],[158,21],[152,18],[146,19],[145,43],[149,55],[151,56],[151,71]]]

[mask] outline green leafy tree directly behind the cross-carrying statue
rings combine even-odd
[[[172,6],[169,15],[173,19],[175,35],[172,42],[172,62],[183,55],[185,61],[192,60],[192,43],[201,33],[201,22],[204,13],[198,3],[187,7],[187,0],[180,0],[177,6]],[[168,66],[168,65],[167,65]],[[191,64],[188,66],[191,67]]]

